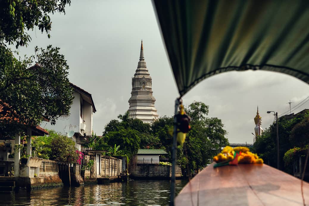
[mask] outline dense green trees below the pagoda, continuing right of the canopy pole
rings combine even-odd
[[[191,131],[188,132],[185,147],[177,146],[177,163],[183,169],[189,166],[190,170],[205,167],[218,149],[228,144],[227,132],[222,121],[218,118],[207,117],[209,107],[202,102],[193,102],[185,108],[187,114],[192,116]],[[136,139],[136,147],[142,149],[164,149],[171,159],[172,137],[168,130],[173,126],[172,116],[162,116],[151,124],[143,123],[139,119],[127,118],[128,113],[119,115],[118,120],[111,120],[104,130],[104,141],[108,145],[121,145],[128,150],[131,140]],[[132,138],[132,139],[133,139]]]

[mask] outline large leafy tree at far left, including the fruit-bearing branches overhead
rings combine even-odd
[[[38,125],[42,118],[55,124],[58,115],[69,113],[73,92],[59,48],[36,47],[36,57],[17,59],[6,45],[27,46],[31,37],[24,30],[34,26],[50,37],[49,14],[65,13],[67,4],[70,0],[0,1],[0,117],[6,116],[0,118],[0,132],[5,136]]]

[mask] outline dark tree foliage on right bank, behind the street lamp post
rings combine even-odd
[[[279,167],[281,170],[292,173],[291,153],[298,150],[303,151],[309,144],[308,118],[308,111],[299,112],[292,119],[286,119],[284,116],[279,118]],[[256,140],[253,144],[253,150],[263,158],[266,164],[277,167],[277,129],[275,122],[265,129],[261,137]],[[295,155],[298,154],[300,153],[295,153]]]

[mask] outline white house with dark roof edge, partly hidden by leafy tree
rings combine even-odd
[[[63,135],[69,131],[74,131],[72,139],[76,143],[76,148],[81,149],[80,140],[83,136],[92,134],[92,114],[95,113],[95,105],[89,92],[70,83],[74,88],[74,99],[71,105],[70,113],[59,116],[55,125],[49,123],[41,126],[47,129],[53,129]]]

